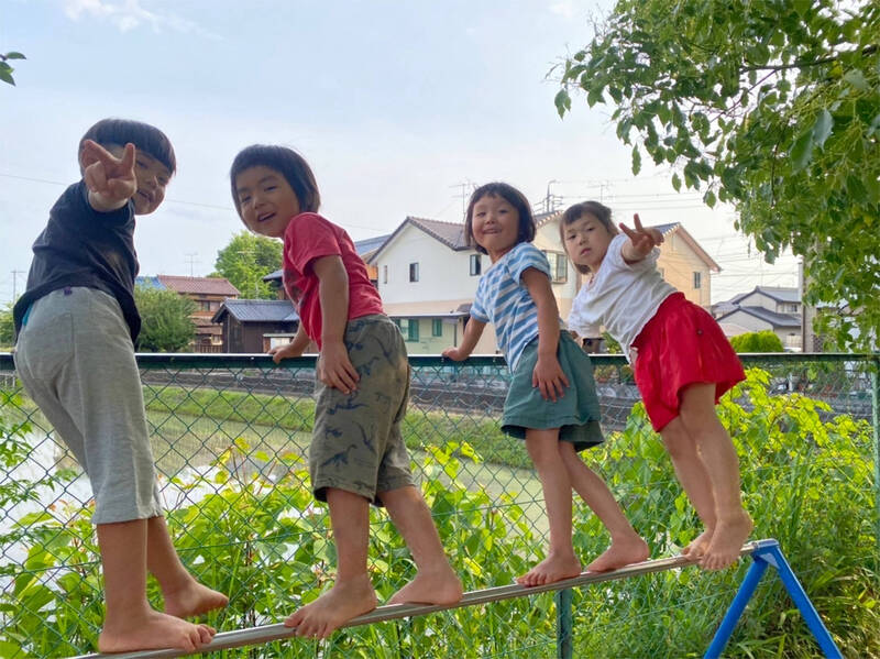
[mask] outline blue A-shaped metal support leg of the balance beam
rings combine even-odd
[[[758,586],[758,582],[761,580],[761,576],[763,576],[768,565],[772,565],[777,569],[777,574],[779,574],[780,580],[782,580],[782,585],[785,586],[792,601],[798,606],[801,615],[804,617],[804,622],[813,633],[825,657],[828,657],[828,659],[843,659],[844,656],[840,653],[840,650],[837,649],[837,645],[834,642],[832,635],[828,633],[822,618],[818,617],[816,608],[813,606],[801,582],[798,581],[794,571],[792,571],[791,565],[789,565],[789,562],[782,554],[779,542],[776,540],[760,541],[759,546],[751,552],[751,558],[755,562],[751,564],[751,568],[749,568],[746,579],[743,580],[739,591],[737,591],[734,602],[730,604],[730,608],[727,609],[721,627],[718,627],[715,637],[712,639],[712,644],[704,655],[704,659],[718,659],[722,656],[724,648],[727,646],[727,641],[730,640],[734,627],[736,627],[746,605],[755,594],[755,589]]]

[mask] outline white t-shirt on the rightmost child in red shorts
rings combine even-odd
[[[615,235],[593,281],[585,283],[572,304],[569,329],[581,337],[598,337],[608,330],[629,360],[629,349],[641,329],[675,288],[657,270],[660,250],[641,261],[624,261],[625,233]]]

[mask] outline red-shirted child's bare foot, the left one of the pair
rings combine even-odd
[[[369,574],[337,581],[333,587],[311,604],[297,609],[284,624],[296,627],[297,636],[327,638],[339,627],[378,604]]]

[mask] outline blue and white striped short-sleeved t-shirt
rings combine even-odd
[[[522,349],[538,336],[538,307],[521,278],[529,267],[550,276],[550,263],[543,252],[529,242],[520,242],[480,277],[471,306],[473,318],[495,326],[498,348],[510,371],[516,370]],[[562,320],[559,323],[562,327]]]

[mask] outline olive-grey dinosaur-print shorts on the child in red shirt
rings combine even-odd
[[[351,394],[316,385],[311,487],[319,501],[334,487],[382,505],[377,493],[415,484],[400,435],[409,399],[406,347],[387,316],[373,315],[349,321],[345,348],[361,380]]]

